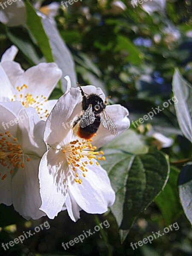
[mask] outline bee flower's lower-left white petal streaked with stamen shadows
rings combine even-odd
[[[61,212],[67,198],[67,162],[62,151],[52,148],[44,154],[39,166],[39,182],[42,205],[39,209],[53,219]]]

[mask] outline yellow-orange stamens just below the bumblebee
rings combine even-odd
[[[87,165],[96,164],[99,166],[97,160],[105,160],[104,156],[99,156],[99,154],[104,154],[103,151],[95,151],[96,146],[92,146],[90,143],[91,141],[93,140],[74,140],[71,141],[66,148],[62,149],[67,158],[70,172],[74,177],[75,182],[79,184],[82,183],[79,176],[81,175],[82,177],[85,177],[85,172],[88,172]]]

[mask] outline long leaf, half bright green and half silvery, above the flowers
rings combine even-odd
[[[55,62],[62,70],[61,84],[62,90],[65,92],[67,81],[65,76],[70,76],[72,86],[76,86],[76,73],[72,55],[62,40],[55,26],[50,23],[49,18],[41,14],[37,15],[32,5],[26,1],[27,26],[37,41],[38,47],[41,49],[44,57],[48,62]]]

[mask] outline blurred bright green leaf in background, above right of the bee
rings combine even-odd
[[[133,64],[140,64],[141,63],[141,53],[134,46],[134,44],[124,35],[117,36],[117,43],[114,49],[115,52],[119,52],[121,50],[127,51],[128,57],[125,57],[125,61],[129,61]]]

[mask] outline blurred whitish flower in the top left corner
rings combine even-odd
[[[0,2],[0,22],[6,26],[20,26],[26,23],[26,9],[22,0]]]

